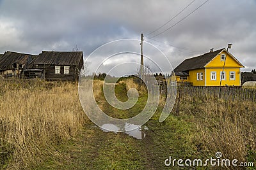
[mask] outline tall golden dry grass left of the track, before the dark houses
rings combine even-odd
[[[77,84],[0,81],[0,169],[58,159],[54,146],[75,136],[86,121]]]

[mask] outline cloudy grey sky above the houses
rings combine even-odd
[[[252,71],[256,69],[255,16],[255,0],[0,0],[0,53],[39,54],[77,46],[93,65],[96,59],[106,59],[90,55],[99,46],[118,39],[140,39],[143,33],[143,50],[160,65],[165,59],[152,48],[159,48],[174,68],[184,59],[232,43],[228,52],[245,66],[241,71]],[[148,34],[152,31],[156,32]],[[111,49],[125,51],[127,44],[120,46]],[[140,53],[140,41],[131,46]],[[140,62],[140,55],[122,54],[102,66],[110,68],[120,62]],[[124,68],[135,71],[133,66]]]

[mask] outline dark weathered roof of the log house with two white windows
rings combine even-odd
[[[39,54],[33,64],[79,66],[83,52],[45,52]]]

